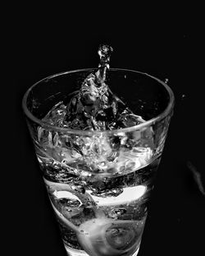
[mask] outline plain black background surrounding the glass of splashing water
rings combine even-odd
[[[120,5],[120,4],[119,4]],[[53,5],[52,12],[30,4],[8,7],[4,21],[7,56],[6,94],[2,102],[11,123],[3,130],[7,165],[7,254],[66,256],[44,189],[21,99],[35,82],[57,72],[97,67],[98,44],[111,44],[111,66],[169,79],[175,113],[166,139],[139,256],[201,255],[204,248],[205,198],[187,167],[191,161],[204,180],[203,30],[199,9],[170,6],[153,10],[99,4],[94,10]],[[102,8],[103,12],[99,11]],[[8,64],[8,66],[7,66]],[[9,95],[9,97],[7,97]],[[8,114],[8,111],[10,114]],[[3,111],[4,112],[4,111]],[[5,114],[5,112],[4,112]],[[12,119],[11,119],[12,117]],[[5,121],[4,121],[5,122]],[[4,123],[5,124],[5,123]],[[4,134],[4,133],[3,133]],[[203,182],[204,184],[204,182]]]

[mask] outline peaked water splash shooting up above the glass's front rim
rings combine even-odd
[[[68,95],[68,104],[55,105],[43,121],[64,128],[77,130],[112,130],[143,123],[125,103],[112,93],[106,82],[107,70],[113,49],[107,44],[98,48],[97,72],[85,77],[80,91]]]

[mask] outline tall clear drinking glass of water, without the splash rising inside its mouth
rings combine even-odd
[[[43,117],[66,105],[94,68],[38,81],[22,104],[48,196],[71,256],[137,255],[174,95],[143,72],[111,68],[107,85],[146,122],[118,130],[59,128]]]

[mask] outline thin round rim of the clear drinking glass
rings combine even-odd
[[[27,91],[25,91],[25,95],[23,96],[23,99],[22,99],[22,108],[24,110],[25,115],[29,119],[34,121],[34,123],[39,123],[39,125],[43,128],[49,128],[49,129],[52,129],[52,130],[55,130],[55,131],[58,131],[58,132],[60,131],[62,133],[72,133],[72,134],[80,134],[80,135],[89,135],[90,136],[90,135],[93,135],[93,134],[102,134],[102,133],[127,133],[127,132],[132,132],[132,131],[139,130],[139,129],[142,129],[144,127],[150,126],[150,125],[160,121],[161,119],[163,119],[164,117],[166,117],[168,114],[171,113],[171,110],[173,109],[174,104],[175,104],[175,95],[174,95],[173,91],[171,90],[171,87],[168,86],[166,84],[166,82],[160,80],[157,77],[153,77],[152,75],[149,75],[147,72],[139,72],[139,71],[136,71],[136,70],[126,69],[126,68],[110,68],[109,71],[136,72],[136,73],[145,75],[147,77],[153,78],[154,80],[158,81],[159,83],[162,84],[162,86],[164,86],[166,88],[166,91],[168,92],[168,94],[170,96],[170,100],[169,100],[168,105],[166,106],[166,109],[164,109],[161,114],[158,114],[153,119],[149,119],[149,120],[145,121],[144,123],[139,123],[137,125],[130,126],[130,127],[127,127],[127,128],[119,128],[119,129],[105,130],[105,131],[90,131],[90,130],[77,130],[77,129],[71,129],[71,128],[61,128],[61,127],[46,123],[46,122],[42,121],[41,119],[36,118],[34,116],[34,114],[32,114],[30,112],[30,110],[27,108],[26,101],[27,101],[28,95],[30,94],[30,91],[34,88],[34,86],[38,85],[40,82],[51,79],[53,77],[59,77],[59,76],[62,76],[62,75],[73,73],[73,72],[86,72],[86,71],[95,70],[95,69],[98,69],[98,68],[97,67],[93,67],[93,68],[89,67],[89,68],[75,69],[75,70],[66,71],[66,72],[58,72],[58,73],[53,74],[51,76],[44,77],[43,79],[41,79],[39,81],[36,81],[33,86],[30,86],[30,88]]]

